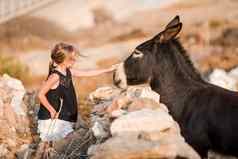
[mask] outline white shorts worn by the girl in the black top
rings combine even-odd
[[[38,130],[42,141],[56,141],[73,132],[73,122],[60,119],[38,120]]]

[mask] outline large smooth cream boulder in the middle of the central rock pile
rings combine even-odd
[[[160,132],[169,129],[173,124],[173,118],[163,109],[142,109],[115,119],[111,124],[111,133]]]

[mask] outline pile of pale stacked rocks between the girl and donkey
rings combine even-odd
[[[93,159],[200,158],[149,86],[102,87],[89,100],[95,104],[92,130],[98,141],[88,149]]]

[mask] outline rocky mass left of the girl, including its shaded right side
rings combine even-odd
[[[34,93],[7,74],[0,77],[0,158],[24,158],[36,148]]]

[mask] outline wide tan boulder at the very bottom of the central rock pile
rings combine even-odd
[[[92,159],[200,158],[182,138],[173,134],[158,137],[158,140],[140,134],[115,136],[97,146],[94,152]]]

